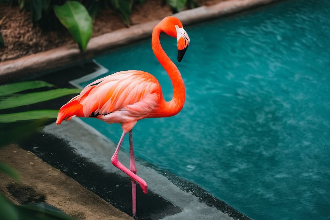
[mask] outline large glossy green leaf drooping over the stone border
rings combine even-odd
[[[60,22],[71,33],[81,50],[85,50],[92,36],[93,23],[86,8],[79,2],[67,1],[64,5],[54,6],[54,12]]]

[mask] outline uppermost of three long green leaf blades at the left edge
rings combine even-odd
[[[0,85],[0,96],[21,92],[27,89],[35,89],[46,86],[53,86],[53,85],[44,81],[26,81],[26,82],[16,82],[11,84]]]

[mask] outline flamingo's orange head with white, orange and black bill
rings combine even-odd
[[[165,17],[160,23],[162,30],[178,40],[178,62],[181,62],[188,46],[189,36],[182,27],[181,21],[177,17]]]

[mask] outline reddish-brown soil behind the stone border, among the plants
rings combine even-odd
[[[199,6],[214,5],[225,0],[196,0]],[[172,15],[169,5],[162,5],[162,0],[146,0],[142,5],[133,8],[131,25],[158,20]],[[16,59],[29,54],[49,50],[65,44],[71,44],[70,34],[64,31],[42,31],[33,25],[30,13],[21,11],[16,6],[0,3],[0,19],[5,48],[0,48],[0,61]],[[117,29],[125,28],[120,16],[109,8],[104,8],[93,21],[92,37]]]

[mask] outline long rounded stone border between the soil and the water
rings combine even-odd
[[[279,0],[227,0],[213,6],[202,6],[175,14],[184,25],[233,14],[242,10],[266,5]],[[85,51],[80,52],[77,44],[69,44],[48,51],[24,56],[0,63],[0,83],[29,74],[63,68],[72,63],[91,59],[109,49],[127,45],[151,36],[159,20],[133,25],[92,38]]]

